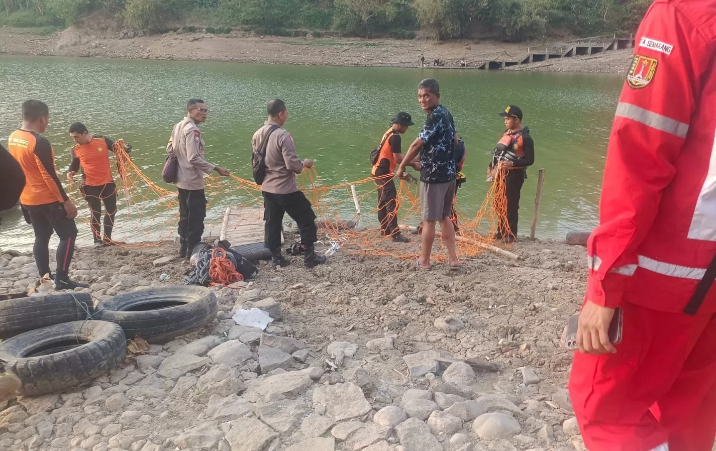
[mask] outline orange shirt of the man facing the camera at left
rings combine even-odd
[[[102,135],[92,135],[92,141],[87,144],[76,144],[72,147],[72,163],[69,172],[76,173],[82,166],[84,185],[102,186],[112,183],[112,170],[110,169],[110,150],[115,145],[110,138]]]

